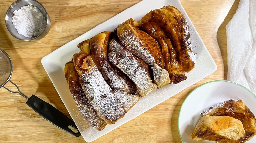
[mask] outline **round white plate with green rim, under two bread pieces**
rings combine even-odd
[[[225,80],[211,81],[197,87],[186,97],[181,105],[178,117],[178,129],[183,143],[214,143],[213,141],[196,141],[190,138],[200,113],[210,107],[229,99],[241,99],[256,115],[256,96],[247,88]],[[253,137],[246,143],[255,143]]]

